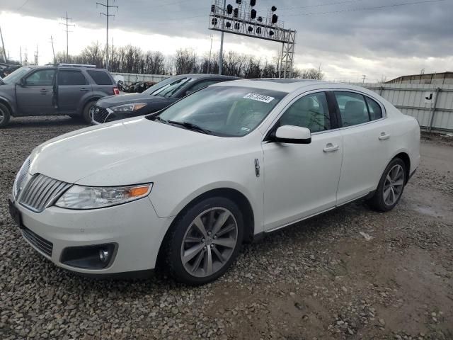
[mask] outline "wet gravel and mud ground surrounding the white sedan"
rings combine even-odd
[[[81,127],[0,130],[0,339],[453,339],[453,142],[423,140],[395,210],[346,205],[244,246],[224,277],[189,288],[159,273],[79,278],[21,238],[6,203],[16,171]]]

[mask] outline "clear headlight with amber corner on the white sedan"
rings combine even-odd
[[[148,196],[152,183],[138,186],[90,187],[71,186],[57,200],[57,207],[67,209],[98,209],[119,205]]]

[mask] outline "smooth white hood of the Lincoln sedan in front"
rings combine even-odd
[[[130,118],[45,142],[33,150],[30,174],[86,186],[145,183],[155,174],[210,157],[200,157],[200,149],[225,140],[229,138]]]

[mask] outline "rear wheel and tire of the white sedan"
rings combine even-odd
[[[395,208],[406,186],[406,164],[402,159],[395,158],[385,168],[374,196],[368,204],[374,210],[387,212]]]

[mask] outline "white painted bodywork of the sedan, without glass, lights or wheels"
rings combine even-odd
[[[253,234],[260,234],[374,191],[389,160],[400,152],[411,159],[410,174],[418,166],[417,121],[367,89],[322,81],[279,84],[244,80],[213,86],[288,94],[244,137],[204,135],[141,117],[70,132],[33,150],[31,175],[44,174],[81,186],[154,183],[147,198],[96,210],[51,206],[35,213],[15,202],[24,225],[54,244],[52,256],[47,258],[81,273],[151,269],[171,222],[207,191],[231,188],[242,193],[253,210]],[[382,105],[384,118],[314,133],[308,145],[264,141],[294,100],[334,90],[374,98]],[[379,139],[383,133],[389,138]],[[119,244],[115,261],[108,268],[74,268],[59,261],[67,246],[108,242]]]

